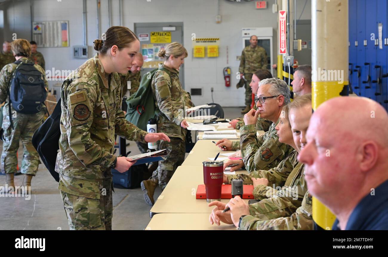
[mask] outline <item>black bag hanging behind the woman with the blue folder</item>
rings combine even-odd
[[[59,99],[52,114],[32,136],[32,145],[38,152],[43,164],[57,182],[59,182],[59,174],[55,171],[55,161],[57,160],[59,138],[61,136],[61,114],[61,99]]]

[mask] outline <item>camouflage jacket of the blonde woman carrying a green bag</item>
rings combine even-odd
[[[162,68],[168,72],[161,70]],[[177,69],[159,64],[159,70],[152,77],[151,86],[155,108],[159,110],[158,132],[184,140],[186,129],[180,126],[180,122],[184,120],[184,108],[189,95],[182,89],[178,73]]]

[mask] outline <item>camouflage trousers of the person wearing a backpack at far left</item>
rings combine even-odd
[[[23,159],[21,172],[35,176],[39,165],[39,155],[33,147],[32,135],[42,125],[45,110],[37,114],[22,114],[12,108],[12,122],[14,128],[10,127],[8,107],[3,109],[3,152],[1,155],[1,171],[4,173],[15,173],[17,171],[17,150],[19,140],[23,144]],[[15,117],[16,116],[16,117]]]

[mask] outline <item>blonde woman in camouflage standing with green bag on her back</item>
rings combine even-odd
[[[158,56],[165,61],[159,64],[159,69],[152,78],[152,93],[156,110],[159,110],[158,132],[166,133],[171,142],[159,142],[158,150],[167,149],[167,159],[159,161],[158,169],[152,177],[141,183],[142,190],[145,191],[145,202],[149,205],[154,204],[154,190],[158,183],[163,190],[185,159],[187,122],[184,119],[184,108],[192,105],[190,95],[182,89],[178,78],[179,68],[187,57],[187,50],[180,43],[173,42],[160,50]]]

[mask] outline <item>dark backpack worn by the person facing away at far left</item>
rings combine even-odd
[[[17,60],[16,69],[10,80],[9,103],[12,107],[23,114],[35,114],[42,110],[47,98],[45,80],[42,72],[34,67],[33,62]],[[11,108],[9,108],[10,126],[13,128],[11,119]]]

